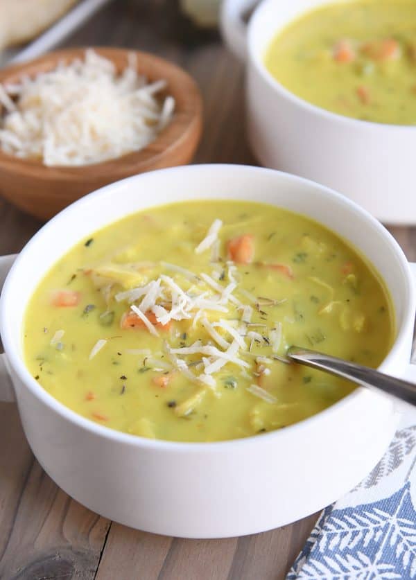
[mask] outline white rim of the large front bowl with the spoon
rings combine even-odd
[[[305,179],[304,177],[298,177],[297,175],[292,175],[289,173],[285,173],[282,171],[277,171],[269,168],[263,167],[256,167],[256,166],[248,166],[248,165],[234,165],[234,164],[196,164],[191,166],[179,166],[179,167],[171,167],[171,168],[164,168],[155,171],[148,172],[144,175],[151,175],[153,173],[165,173],[168,175],[169,173],[177,173],[177,172],[197,172],[202,171],[211,171],[213,168],[218,168],[219,170],[223,171],[250,171],[250,172],[257,172],[257,173],[274,173],[278,175],[282,175],[285,179],[290,179],[292,182],[297,182],[299,184],[306,184],[306,186],[316,188],[318,186],[320,193],[324,195],[331,195],[332,197],[336,197],[336,200],[342,206],[349,206],[350,208],[354,209],[356,212],[364,214],[369,228],[371,227],[373,230],[379,232],[383,238],[385,238],[385,243],[388,243],[392,246],[392,249],[395,251],[395,255],[397,260],[401,265],[401,270],[404,272],[404,277],[406,279],[406,285],[403,288],[404,294],[404,301],[406,302],[406,308],[404,310],[403,321],[401,325],[397,327],[397,335],[395,337],[395,341],[390,347],[388,354],[385,356],[383,362],[379,365],[379,369],[383,370],[385,367],[388,367],[388,364],[391,360],[394,360],[396,357],[399,358],[399,353],[406,342],[406,336],[408,334],[409,328],[413,328],[413,311],[415,310],[415,292],[413,289],[413,279],[410,273],[410,266],[408,264],[408,260],[404,255],[403,250],[393,238],[392,234],[381,225],[381,223],[376,220],[373,216],[370,215],[365,209],[358,206],[352,200],[333,191],[331,188],[322,186],[321,184],[317,184],[316,182],[311,181],[311,179]],[[310,425],[314,425],[317,421],[322,421],[322,417],[329,415],[330,413],[336,412],[337,410],[346,407],[349,403],[352,403],[356,400],[357,397],[361,398],[366,396],[370,393],[368,389],[365,387],[357,387],[354,391],[344,398],[340,399],[333,405],[327,407],[327,409],[322,410],[318,414],[312,415],[302,421],[297,423],[293,423],[292,425],[288,425],[285,428],[270,431],[264,434],[255,434],[250,437],[243,437],[241,439],[230,439],[225,441],[207,441],[207,442],[198,442],[198,441],[168,441],[166,439],[147,439],[146,437],[141,437],[139,435],[129,434],[121,431],[114,430],[112,428],[106,427],[105,425],[99,425],[94,421],[81,416],[80,414],[76,413],[75,411],[69,409],[63,403],[60,403],[57,399],[55,399],[49,392],[47,392],[28,371],[26,364],[24,364],[24,358],[19,353],[17,353],[15,347],[12,344],[12,337],[9,335],[9,328],[10,325],[7,324],[7,316],[8,311],[6,309],[6,303],[8,301],[8,294],[12,288],[13,284],[13,273],[17,268],[20,267],[20,262],[22,256],[28,249],[30,249],[33,245],[38,243],[39,238],[42,238],[43,232],[52,227],[55,222],[59,222],[60,220],[71,219],[70,213],[73,209],[73,206],[82,207],[83,204],[87,204],[90,202],[91,199],[99,198],[101,195],[112,195],[112,190],[118,191],[121,184],[128,184],[128,182],[136,182],[137,179],[140,179],[141,175],[133,175],[132,177],[127,177],[125,179],[120,180],[119,182],[114,182],[98,190],[89,193],[85,197],[81,197],[80,200],[73,202],[73,204],[67,206],[67,208],[63,209],[58,213],[54,218],[52,218],[49,222],[46,223],[37,233],[28,241],[28,243],[24,246],[21,250],[20,254],[17,256],[15,263],[13,263],[10,272],[7,276],[6,282],[3,286],[3,290],[1,292],[0,297],[0,331],[1,331],[1,339],[3,340],[3,346],[6,353],[6,357],[8,359],[10,367],[12,368],[13,372],[19,378],[21,384],[23,385],[24,389],[28,389],[37,400],[49,407],[50,410],[53,412],[58,413],[62,419],[69,421],[70,423],[75,424],[78,428],[82,428],[85,432],[89,432],[89,434],[94,434],[98,437],[103,437],[107,441],[113,441],[114,443],[123,443],[129,446],[138,446],[141,448],[148,448],[152,450],[169,450],[171,452],[203,452],[204,454],[209,454],[211,452],[227,452],[229,448],[236,448],[242,450],[244,446],[251,446],[251,445],[259,445],[261,442],[264,443],[272,443],[274,439],[279,437],[290,437],[291,434],[295,432],[299,432],[300,430],[304,429],[305,427],[309,427]],[[175,200],[173,200],[175,201]],[[180,201],[180,200],[176,200]],[[138,210],[140,211],[140,210]],[[67,215],[69,214],[68,218]],[[126,214],[127,215],[127,214]],[[335,232],[336,233],[336,232]],[[363,255],[365,253],[363,252]],[[388,397],[385,394],[374,394],[371,392],[371,396],[378,396],[386,398]]]

